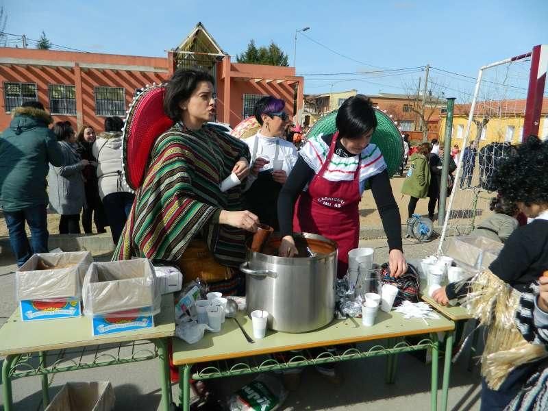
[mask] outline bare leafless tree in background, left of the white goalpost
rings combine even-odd
[[[409,99],[409,110],[414,112],[416,118],[419,119],[418,131],[423,132],[423,142],[426,142],[428,140],[428,121],[445,105],[442,96],[445,95],[447,87],[441,83],[429,81],[424,96],[423,90],[421,90],[421,79],[418,79],[416,82],[403,83],[403,89]]]

